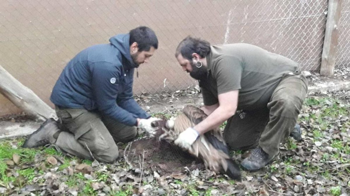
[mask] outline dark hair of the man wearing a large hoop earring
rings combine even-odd
[[[179,56],[180,53],[183,58],[188,60],[192,59],[193,53],[197,53],[201,58],[204,58],[210,53],[210,43],[200,38],[187,36],[177,46],[175,57]]]

